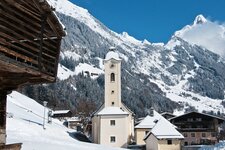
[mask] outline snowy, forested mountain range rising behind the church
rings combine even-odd
[[[85,101],[99,107],[104,98],[102,62],[108,48],[116,46],[122,58],[122,101],[137,116],[145,115],[151,106],[176,113],[224,111],[223,25],[199,15],[167,44],[151,43],[111,31],[88,10],[68,0],[48,1],[67,29],[59,80],[34,86],[36,92],[25,88],[23,93],[38,101],[47,99],[52,105],[66,103],[77,109]]]

